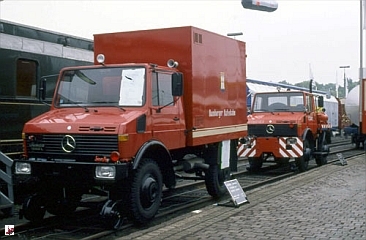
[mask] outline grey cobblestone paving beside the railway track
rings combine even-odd
[[[118,239],[366,239],[366,155],[246,192]]]

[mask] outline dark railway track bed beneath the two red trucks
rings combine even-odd
[[[362,150],[355,150],[354,146],[349,142],[349,139],[338,139],[332,143],[331,152],[328,156],[328,164],[339,162],[339,154],[342,154],[342,157],[345,159],[365,154]],[[264,164],[262,171],[257,173],[246,171],[246,166],[246,160],[241,159],[238,167],[239,171],[233,174],[233,178],[239,181],[244,191],[263,187],[267,184],[296,175],[296,171],[291,171],[289,166],[278,167],[268,163]],[[316,167],[315,161],[310,161],[309,171]],[[184,184],[178,185],[174,190],[165,190],[163,195],[159,213],[146,226],[134,226],[126,219],[120,229],[106,230],[106,226],[100,221],[99,211],[80,208],[73,216],[67,218],[49,216],[37,225],[30,224],[27,221],[14,224],[15,235],[21,239],[113,239],[139,231],[141,228],[153,227],[167,219],[175,218],[180,214],[188,213],[200,207],[229,199],[229,195],[221,199],[211,198],[206,192],[203,181],[184,181]],[[18,217],[17,215],[18,213],[14,217]],[[4,223],[5,220],[2,220],[2,222]],[[6,222],[5,224],[12,224],[9,221]],[[5,229],[0,229],[0,231],[4,232]],[[6,236],[3,238],[6,238]]]

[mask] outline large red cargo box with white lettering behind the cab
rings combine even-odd
[[[106,64],[178,63],[184,74],[187,145],[246,135],[245,43],[196,27],[94,35]]]

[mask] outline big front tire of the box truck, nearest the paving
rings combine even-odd
[[[162,175],[157,163],[143,159],[131,185],[131,214],[135,224],[146,224],[159,210],[162,200]]]

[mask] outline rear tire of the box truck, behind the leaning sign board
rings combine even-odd
[[[208,194],[218,198],[227,192],[224,182],[230,179],[230,172],[221,170],[219,165],[210,165],[205,172],[205,184]]]

